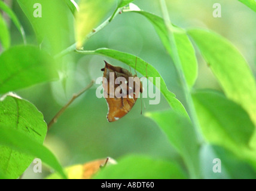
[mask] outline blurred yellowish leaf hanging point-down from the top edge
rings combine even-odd
[[[86,36],[99,24],[99,22],[111,11],[115,0],[81,0],[79,11],[75,16],[75,38],[77,48],[83,47]]]

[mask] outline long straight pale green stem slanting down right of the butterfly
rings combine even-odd
[[[174,38],[174,35],[173,35],[173,27],[172,27],[172,23],[170,21],[169,13],[168,13],[168,10],[167,10],[167,7],[166,7],[166,2],[164,0],[160,0],[160,6],[161,6],[161,11],[163,13],[164,23],[166,25],[167,32],[169,33],[170,46],[171,46],[172,51],[173,51],[173,53],[172,53],[173,61],[175,63],[175,67],[176,67],[176,70],[178,72],[179,79],[181,80],[182,90],[184,91],[185,99],[186,99],[187,104],[188,104],[188,111],[190,113],[190,119],[191,119],[191,122],[193,124],[194,131],[197,135],[197,140],[198,140],[199,143],[202,143],[203,137],[202,137],[202,134],[200,132],[200,125],[199,125],[199,121],[197,119],[196,109],[194,107],[194,103],[193,103],[193,99],[191,97],[190,89],[188,88],[187,82],[185,80],[184,72],[182,70],[181,60],[179,58],[178,50],[176,48],[176,42],[175,42],[175,38]],[[199,169],[191,170],[191,177],[192,178],[199,178],[200,175],[199,175],[198,171],[199,171]]]

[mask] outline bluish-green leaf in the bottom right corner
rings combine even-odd
[[[238,158],[224,147],[205,144],[200,152],[200,164],[203,178],[206,179],[248,179],[256,178],[255,169],[248,162]],[[214,159],[220,159],[215,161]],[[214,165],[219,166],[221,173],[214,172]],[[214,168],[215,169],[215,168]]]

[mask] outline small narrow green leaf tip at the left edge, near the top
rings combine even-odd
[[[10,33],[8,30],[7,24],[4,20],[4,18],[2,17],[1,13],[0,13],[0,29],[1,29],[0,30],[0,42],[4,49],[8,49],[11,44]]]

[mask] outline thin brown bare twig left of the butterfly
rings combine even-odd
[[[95,83],[95,81],[92,80],[92,82],[90,82],[90,84],[87,85],[86,88],[84,88],[83,90],[81,90],[81,91],[78,92],[77,94],[74,94],[74,95],[73,95],[73,97],[71,98],[71,100],[69,100],[68,103],[67,103],[65,106],[63,106],[62,109],[59,110],[59,112],[54,116],[54,118],[51,119],[51,121],[50,121],[49,124],[47,125],[48,130],[51,128],[51,126],[52,126],[53,124],[55,124],[55,123],[57,122],[57,120],[58,120],[58,118],[60,117],[60,115],[62,115],[62,113],[65,112],[65,110],[68,108],[68,106],[69,106],[71,103],[73,103],[73,101],[74,101],[76,98],[80,97],[83,93],[85,93],[87,90],[89,90],[89,89],[93,86],[94,83]]]

